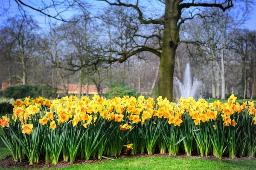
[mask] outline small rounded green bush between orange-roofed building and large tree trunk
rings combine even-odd
[[[125,86],[111,88],[109,92],[105,93],[106,98],[114,98],[115,96],[122,98],[124,95],[130,97],[134,96],[137,98],[138,96],[140,96],[140,93],[135,92],[135,90],[131,87]]]

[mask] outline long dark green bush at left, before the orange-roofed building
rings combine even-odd
[[[7,87],[3,95],[6,98],[25,98],[30,96],[31,98],[36,98],[42,96],[44,98],[49,98],[55,96],[56,90],[52,92],[52,87],[41,84],[41,85],[31,85],[31,84],[24,84],[24,85],[17,85],[17,86],[9,86]]]

